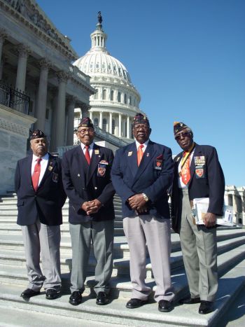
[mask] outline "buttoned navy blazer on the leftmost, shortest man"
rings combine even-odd
[[[47,169],[35,191],[31,181],[32,155],[17,162],[15,192],[18,196],[18,225],[31,225],[39,218],[45,225],[62,224],[66,194],[62,185],[61,160],[49,155]]]

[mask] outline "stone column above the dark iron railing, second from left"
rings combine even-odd
[[[27,57],[30,50],[27,46],[20,46],[18,48],[18,69],[15,82],[15,88],[19,91],[25,92],[25,77],[27,75]]]

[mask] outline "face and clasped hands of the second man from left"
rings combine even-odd
[[[81,143],[83,143],[85,146],[90,146],[92,141],[94,141],[95,132],[91,127],[78,127],[76,135]],[[81,205],[81,208],[86,212],[87,215],[96,214],[101,207],[102,202],[100,202],[98,199],[85,201]]]

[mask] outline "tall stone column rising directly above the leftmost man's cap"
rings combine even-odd
[[[38,85],[38,95],[35,117],[37,118],[35,127],[38,130],[45,130],[45,113],[47,105],[47,92],[48,92],[48,69],[50,67],[50,62],[48,60],[41,60],[40,62],[40,76]]]

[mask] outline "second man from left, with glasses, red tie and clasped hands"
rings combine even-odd
[[[80,145],[64,153],[62,160],[64,190],[69,197],[72,245],[69,302],[71,305],[82,302],[92,242],[97,261],[94,285],[96,303],[106,305],[109,302],[113,264],[113,152],[94,144],[94,126],[88,117],[81,120],[77,135]]]

